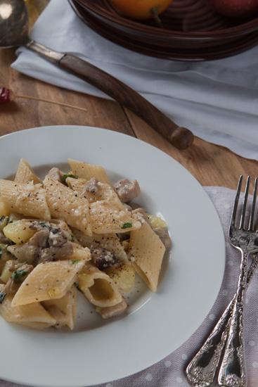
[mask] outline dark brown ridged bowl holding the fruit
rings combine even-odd
[[[70,0],[93,30],[128,49],[160,58],[202,61],[224,58],[258,43],[258,18],[230,20],[214,13],[206,0],[174,0],[153,21],[139,23],[117,13],[108,0]]]

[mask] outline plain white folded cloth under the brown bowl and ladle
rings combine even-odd
[[[231,58],[179,62],[143,56],[100,37],[67,0],[51,0],[31,34],[41,44],[86,59],[129,84],[202,139],[258,159],[258,46]],[[18,49],[13,68],[51,84],[106,97],[36,53]]]

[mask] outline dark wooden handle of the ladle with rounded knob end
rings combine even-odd
[[[186,149],[193,143],[193,133],[184,127],[179,127],[160,110],[131,87],[112,77],[107,72],[91,63],[83,61],[77,56],[65,54],[58,62],[60,68],[72,72],[82,80],[92,84],[108,96],[115,99],[134,112],[162,134],[172,145],[179,149]]]

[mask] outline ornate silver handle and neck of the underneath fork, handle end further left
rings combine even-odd
[[[258,265],[258,254],[254,254],[252,264],[247,273],[247,284],[250,284],[252,275]],[[222,350],[228,335],[228,322],[231,317],[236,294],[226,307],[223,315],[217,322],[205,343],[186,368],[186,376],[192,386],[207,387],[213,381],[219,364]]]

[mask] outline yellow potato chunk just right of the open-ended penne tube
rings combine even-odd
[[[131,265],[110,267],[105,270],[109,277],[115,282],[119,291],[130,293],[134,288],[135,271]]]

